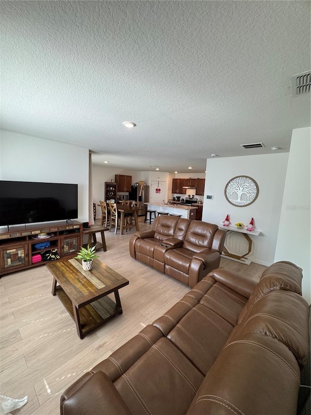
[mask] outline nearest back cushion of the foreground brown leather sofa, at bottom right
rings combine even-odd
[[[187,415],[293,415],[299,378],[299,366],[284,344],[248,334],[221,351]]]

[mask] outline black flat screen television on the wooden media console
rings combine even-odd
[[[77,217],[77,184],[0,180],[0,226]]]

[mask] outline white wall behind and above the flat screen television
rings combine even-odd
[[[88,221],[88,149],[1,131],[0,179],[78,184],[78,214]]]

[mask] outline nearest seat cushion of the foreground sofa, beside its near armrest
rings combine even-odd
[[[132,414],[185,414],[203,379],[170,340],[161,338],[114,385]]]

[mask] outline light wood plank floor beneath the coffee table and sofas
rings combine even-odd
[[[97,220],[96,222],[99,222]],[[140,230],[150,229],[139,218]],[[0,279],[0,395],[28,403],[13,414],[58,415],[62,392],[75,379],[172,307],[190,289],[129,255],[133,231],[105,232],[99,259],[130,281],[120,290],[123,314],[80,340],[73,320],[52,296],[45,266]],[[98,240],[100,240],[100,234]],[[222,258],[221,266],[259,279],[265,267]]]

